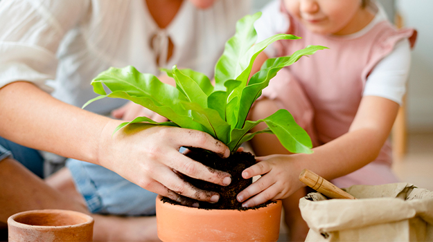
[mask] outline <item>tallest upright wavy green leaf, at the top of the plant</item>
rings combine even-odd
[[[240,59],[255,44],[257,33],[254,22],[260,18],[261,12],[247,15],[236,24],[236,34],[227,41],[220,59],[215,65],[215,90],[225,91],[224,82],[236,79],[236,68]]]

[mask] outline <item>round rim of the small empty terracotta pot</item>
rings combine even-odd
[[[45,212],[45,213],[66,213],[66,214],[73,214],[73,215],[79,215],[82,216],[83,218],[86,218],[87,221],[84,223],[77,223],[74,225],[63,225],[63,226],[45,226],[45,225],[29,225],[26,223],[19,223],[17,221],[15,221],[15,218],[22,216],[22,215],[26,215],[26,214],[39,214],[41,212]],[[84,225],[89,225],[91,223],[94,223],[94,218],[92,218],[91,216],[84,214],[82,212],[76,212],[76,211],[72,211],[72,210],[29,210],[29,211],[24,211],[24,212],[19,212],[17,214],[13,214],[12,216],[10,216],[8,218],[8,225],[13,225],[15,227],[21,227],[21,228],[27,228],[27,227],[32,227],[33,230],[46,230],[47,228],[49,228],[50,230],[63,230],[63,229],[70,229],[73,227],[82,227]]]

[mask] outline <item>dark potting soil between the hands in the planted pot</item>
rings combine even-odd
[[[187,153],[186,156],[192,158],[193,160],[197,160],[202,164],[210,167],[210,169],[216,169],[220,171],[226,171],[231,174],[231,183],[230,185],[224,187],[220,185],[216,185],[213,183],[208,183],[204,180],[197,180],[188,176],[183,176],[184,180],[191,183],[193,186],[203,189],[205,191],[213,191],[218,192],[220,194],[220,200],[218,203],[206,203],[199,202],[200,208],[204,209],[218,209],[218,210],[247,210],[247,209],[255,209],[258,207],[263,207],[269,203],[265,203],[264,205],[259,205],[257,207],[245,208],[242,207],[242,203],[239,203],[236,200],[236,196],[243,189],[247,188],[252,184],[252,178],[244,179],[242,178],[242,171],[247,167],[251,167],[251,165],[256,164],[256,158],[251,153],[247,152],[236,152],[233,153],[228,158],[221,158],[215,153],[210,151],[206,151],[204,149],[198,148],[188,148],[191,152]],[[193,204],[197,201],[187,198],[184,198],[184,204]],[[175,201],[170,200],[169,198],[164,198],[164,202],[176,203]]]

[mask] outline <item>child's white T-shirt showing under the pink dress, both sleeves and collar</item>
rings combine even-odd
[[[254,27],[257,30],[258,40],[261,41],[276,33],[285,32],[290,26],[290,20],[280,11],[280,0],[274,0],[263,9],[263,15],[256,21]],[[343,38],[356,38],[369,32],[375,24],[387,19],[385,10],[376,1],[372,1],[371,8],[377,9],[374,19],[362,30]],[[276,50],[272,45],[265,49],[269,57],[276,57]],[[409,75],[411,62],[411,50],[409,40],[399,41],[394,50],[384,57],[373,68],[366,79],[363,96],[373,95],[385,97],[389,100],[402,104],[403,95],[406,91],[406,82]]]

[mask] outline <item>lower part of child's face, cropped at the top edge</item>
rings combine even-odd
[[[361,0],[285,0],[285,8],[308,30],[339,35],[347,34],[347,28],[355,24],[361,3]]]

